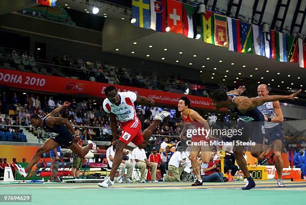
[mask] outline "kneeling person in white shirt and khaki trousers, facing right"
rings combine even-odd
[[[163,174],[163,181],[180,181],[180,174],[182,173],[184,166],[180,166],[181,163],[186,161],[185,158],[182,158],[182,147],[177,147],[177,151],[171,156],[168,164],[169,174]]]

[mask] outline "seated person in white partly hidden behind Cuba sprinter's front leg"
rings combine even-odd
[[[112,160],[113,160],[115,151],[113,150],[114,148],[112,146],[113,141],[111,141],[110,143],[111,143],[111,146],[109,146],[106,150],[106,159],[107,159],[109,167],[111,168]],[[123,174],[124,174],[125,168],[127,168],[127,173],[126,173],[125,179],[124,179]],[[133,165],[130,162],[122,160],[118,169],[120,170],[120,175],[119,175],[120,178],[118,180],[119,183],[123,183],[124,181],[126,181],[128,183],[133,182],[131,180],[131,175],[132,175],[132,172],[133,172]]]

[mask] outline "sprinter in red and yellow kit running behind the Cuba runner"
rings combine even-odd
[[[208,131],[209,125],[208,122],[201,117],[196,111],[193,109],[190,109],[190,100],[186,96],[182,96],[179,98],[177,109],[180,111],[180,115],[182,119],[184,120],[185,124],[180,132],[180,139],[181,143],[186,143],[184,140],[183,134],[187,131],[188,128],[190,128],[190,124],[194,126],[194,128],[201,128],[203,127],[206,131]],[[205,133],[206,134],[206,133]],[[209,134],[210,136],[210,134]],[[191,142],[200,141],[200,140],[206,140],[204,135],[192,135]],[[199,168],[197,165],[197,156],[199,152],[201,151],[201,158],[203,163],[208,163],[210,160],[210,146],[209,145],[191,145],[190,147],[190,160],[191,160],[191,166],[194,174],[196,175],[196,180],[194,183],[191,184],[191,186],[198,186],[202,185],[202,178],[199,173]]]

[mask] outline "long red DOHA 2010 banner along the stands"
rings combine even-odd
[[[105,97],[105,88],[112,84],[55,77],[50,75],[0,69],[0,84],[23,89],[40,90],[56,93],[87,94]],[[118,91],[133,91],[138,95],[153,98],[156,103],[177,105],[179,97],[184,94],[165,92],[138,87],[114,85]],[[214,109],[210,98],[187,95],[192,107]]]

